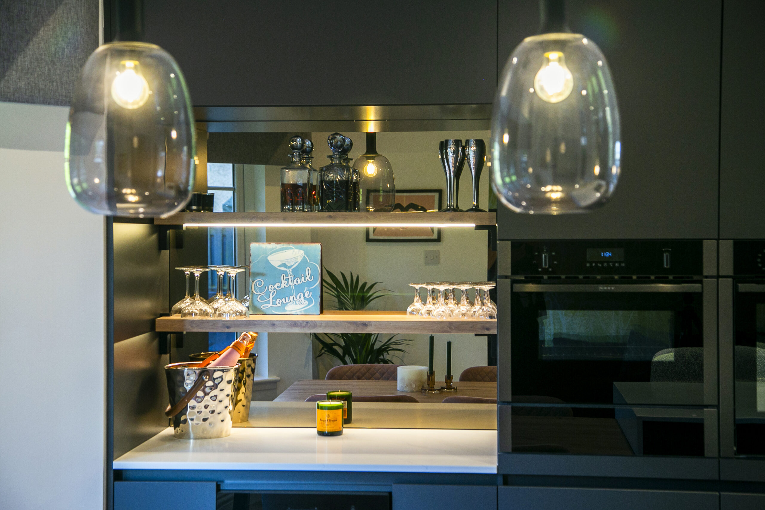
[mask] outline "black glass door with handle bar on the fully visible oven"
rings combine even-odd
[[[516,281],[513,401],[702,405],[702,301],[700,283]]]

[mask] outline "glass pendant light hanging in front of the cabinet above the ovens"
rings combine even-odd
[[[601,50],[565,24],[564,0],[540,0],[539,33],[510,55],[494,99],[494,190],[516,213],[602,206],[620,174],[619,109]]]

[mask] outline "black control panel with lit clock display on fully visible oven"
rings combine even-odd
[[[765,265],[765,251],[761,260]],[[605,239],[510,244],[511,274],[518,276],[698,276],[703,274],[703,262],[702,241]]]

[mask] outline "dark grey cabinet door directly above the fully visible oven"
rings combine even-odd
[[[593,213],[529,216],[500,206],[499,239],[716,238],[721,0],[566,6],[571,30],[601,47],[614,76],[622,174],[610,203]],[[539,15],[535,0],[500,2],[499,13],[501,70]]]

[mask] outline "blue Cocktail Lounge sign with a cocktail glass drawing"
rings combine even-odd
[[[321,242],[249,245],[249,313],[318,315]]]

